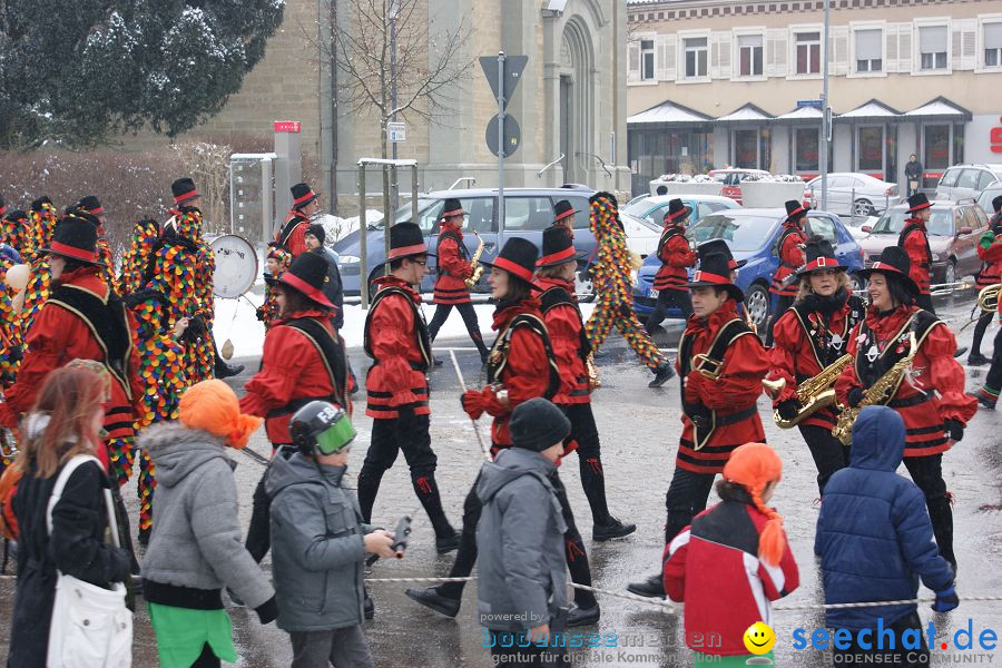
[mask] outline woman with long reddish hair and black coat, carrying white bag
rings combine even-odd
[[[128,551],[107,544],[102,465],[85,461],[72,470],[58,501],[48,507],[63,466],[77,455],[104,455],[98,432],[105,421],[107,376],[81,364],[49,373],[21,425],[21,472],[13,510],[18,539],[18,591],[10,632],[9,668],[47,664],[49,626],[58,572],[108,587],[129,574]],[[107,456],[105,455],[105,460]],[[57,572],[58,571],[58,572]]]

